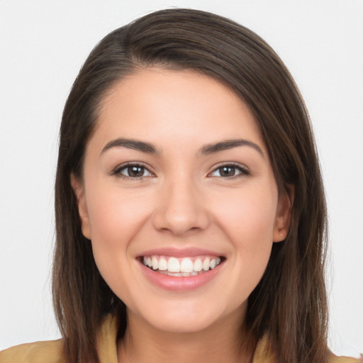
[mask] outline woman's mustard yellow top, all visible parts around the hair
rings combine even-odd
[[[98,337],[97,352],[101,363],[118,363],[116,350],[117,320],[108,315],[102,323]],[[336,357],[330,354],[329,363],[363,363],[361,359]],[[62,340],[35,342],[11,347],[0,352],[0,363],[65,363],[62,357]],[[277,363],[274,352],[269,349],[269,340],[259,340],[253,363]]]

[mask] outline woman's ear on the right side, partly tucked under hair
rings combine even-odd
[[[294,186],[287,186],[286,191],[279,195],[277,213],[274,223],[274,242],[286,239],[291,224],[291,210],[294,203]]]

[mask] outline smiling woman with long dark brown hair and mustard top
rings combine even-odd
[[[173,9],[107,35],[69,94],[55,188],[63,339],[1,363],[337,359],[308,113],[255,33]]]

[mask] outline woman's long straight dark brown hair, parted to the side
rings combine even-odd
[[[326,211],[306,107],[277,54],[251,30],[213,13],[167,9],[108,34],[87,58],[62,116],[55,183],[52,291],[67,362],[99,362],[96,332],[108,313],[125,333],[125,305],[107,286],[82,235],[70,176],[82,179],[87,140],[101,102],[140,67],[191,69],[233,89],[255,114],[279,191],[294,188],[291,226],[274,243],[267,270],[248,299],[247,331],[269,334],[280,363],[325,362]],[[86,303],[84,303],[86,301]]]

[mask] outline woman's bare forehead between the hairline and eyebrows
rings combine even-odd
[[[227,86],[194,71],[160,68],[121,79],[101,104],[94,138],[136,136],[152,143],[244,137],[263,144],[252,111]]]

